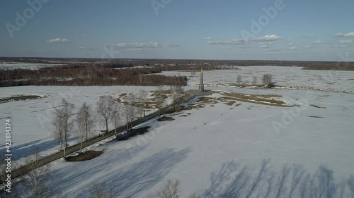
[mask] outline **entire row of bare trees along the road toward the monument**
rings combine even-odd
[[[166,91],[163,86],[158,86],[155,92],[156,108],[161,112],[160,110],[164,108],[164,99],[166,99],[164,92]],[[180,85],[171,86],[169,92],[172,104],[176,106],[178,100],[183,96],[183,87]],[[68,147],[69,136],[76,132],[82,149],[83,142],[88,141],[93,135],[92,129],[96,120],[105,127],[106,133],[109,125],[113,125],[115,133],[117,133],[117,128],[125,118],[127,130],[130,130],[132,126],[129,123],[132,123],[136,118],[145,116],[147,95],[147,91],[142,89],[138,94],[127,94],[125,101],[122,102],[118,102],[109,95],[100,97],[96,103],[96,116],[93,115],[94,111],[88,104],[82,104],[79,110],[74,113],[74,104],[70,104],[67,99],[62,99],[62,105],[55,108],[52,118],[55,140],[59,142],[60,149],[65,151]],[[75,129],[75,125],[77,125],[77,129]]]

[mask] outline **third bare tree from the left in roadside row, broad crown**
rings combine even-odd
[[[108,132],[108,125],[113,120],[115,113],[115,101],[111,96],[100,97],[97,102],[97,113],[101,116],[101,121],[105,125],[105,132]]]

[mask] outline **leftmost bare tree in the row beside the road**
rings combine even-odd
[[[54,136],[55,139],[60,142],[61,150],[67,148],[67,138],[73,128],[74,121],[72,120],[72,112],[74,110],[74,104],[70,104],[66,99],[62,99],[62,106],[60,108],[55,107],[54,117],[52,123],[55,126]]]

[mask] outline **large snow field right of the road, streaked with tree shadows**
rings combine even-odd
[[[87,197],[93,184],[101,182],[107,188],[113,187],[116,195],[142,197],[159,190],[168,179],[181,181],[181,197],[193,192],[202,197],[216,197],[222,192],[229,197],[257,197],[261,192],[261,197],[265,197],[269,183],[269,197],[276,197],[278,192],[280,197],[289,197],[292,187],[296,187],[292,197],[309,193],[306,187],[331,197],[338,197],[336,193],[342,187],[348,192],[347,179],[354,173],[352,94],[305,90],[243,92],[280,94],[287,104],[297,104],[300,110],[219,102],[171,115],[173,121],[152,120],[146,124],[152,128],[145,135],[93,147],[104,150],[96,159],[55,161],[53,177],[59,178],[55,186],[69,197]],[[284,119],[287,113],[295,116]],[[285,127],[277,130],[273,123]],[[264,162],[265,159],[269,161]],[[262,163],[266,164],[265,169],[261,169]],[[292,184],[292,170],[296,169],[292,169],[293,163],[302,166],[297,170],[306,171],[300,185]],[[290,169],[283,168],[285,164]],[[316,175],[311,180],[307,173]],[[282,181],[284,175],[287,177]],[[332,185],[336,190],[333,193]]]

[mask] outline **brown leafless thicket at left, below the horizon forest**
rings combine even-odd
[[[25,85],[110,86],[186,85],[184,76],[158,75],[161,68],[115,69],[96,65],[45,67],[38,70],[1,70],[0,87]]]

